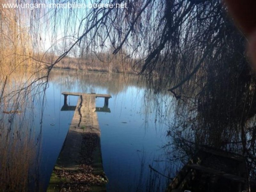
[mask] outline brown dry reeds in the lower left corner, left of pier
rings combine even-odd
[[[34,137],[28,129],[0,128],[0,191],[28,191],[36,157]]]

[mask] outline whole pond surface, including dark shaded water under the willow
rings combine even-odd
[[[211,119],[198,111],[193,98],[174,100],[169,93],[154,92],[136,76],[54,69],[48,85],[45,101],[41,92],[22,107],[15,108],[17,103],[3,106],[3,111],[21,113],[1,114],[5,121],[0,121],[0,168],[5,169],[7,160],[28,154],[23,158],[28,171],[20,170],[29,173],[20,176],[30,178],[25,188],[47,188],[77,103],[76,96],[65,101],[62,92],[112,95],[108,103],[96,100],[108,191],[164,191],[182,166],[205,146],[244,154],[251,179],[256,178],[254,117],[246,124],[244,144],[236,121],[221,124],[223,119]],[[16,123],[10,125],[9,121]],[[12,149],[14,153],[6,153]],[[13,161],[12,167],[20,167],[22,161],[18,162]],[[1,172],[1,178],[6,174]],[[9,180],[13,177],[10,174]],[[0,187],[5,184],[1,179]]]

